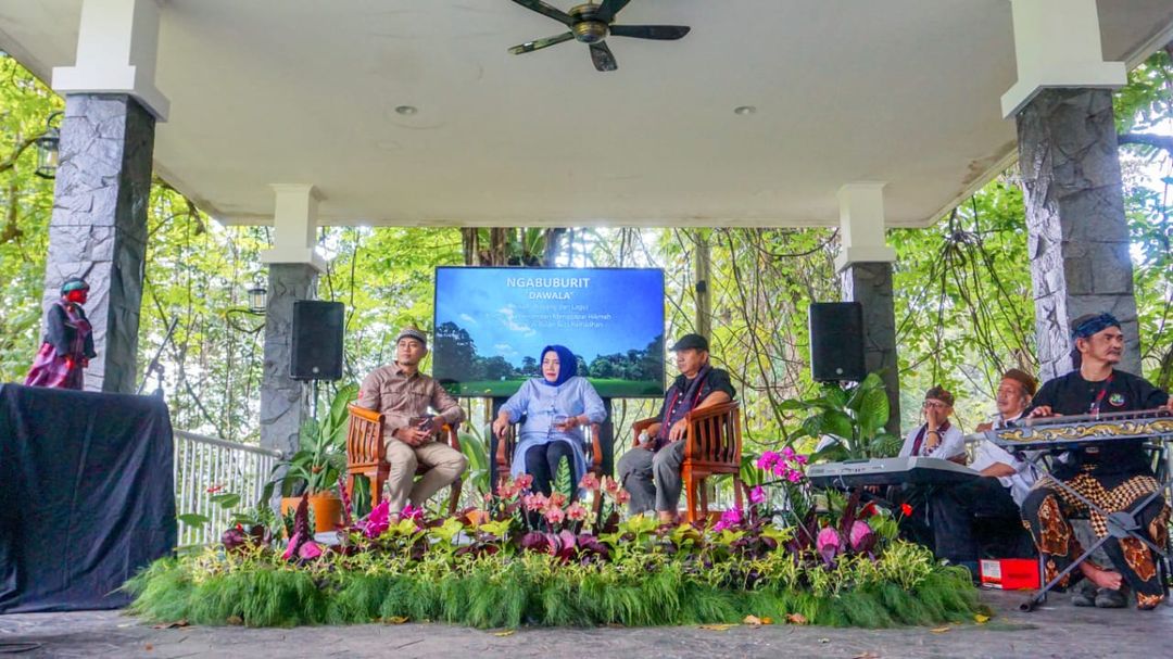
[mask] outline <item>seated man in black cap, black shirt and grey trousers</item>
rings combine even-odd
[[[639,447],[619,458],[618,473],[623,487],[631,494],[631,514],[656,510],[660,522],[674,522],[680,503],[680,466],[687,430],[684,416],[733,400],[737,392],[730,374],[708,365],[708,340],[700,334],[685,334],[672,347],[680,372],[664,393],[659,422],[647,428]]]

